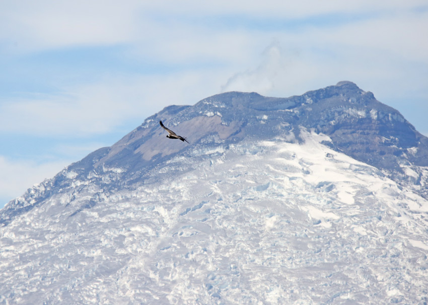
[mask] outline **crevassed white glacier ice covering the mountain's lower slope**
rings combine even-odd
[[[302,137],[195,149],[117,191],[68,172],[0,228],[0,303],[428,301],[428,202]]]

